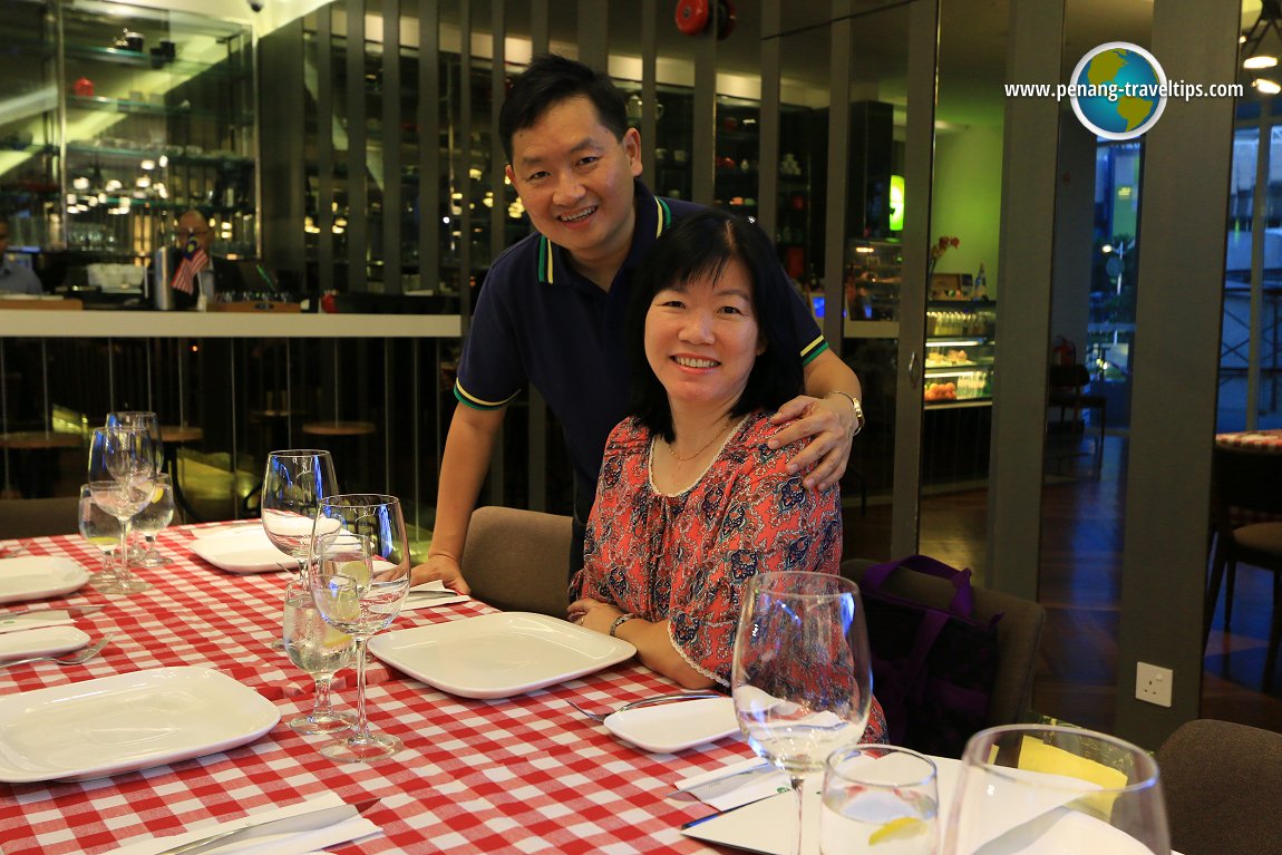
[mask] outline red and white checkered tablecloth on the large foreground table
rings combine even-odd
[[[210,818],[294,804],[333,791],[379,797],[365,817],[385,834],[336,852],[709,852],[678,827],[712,810],[668,799],[672,782],[751,752],[738,738],[654,755],[612,737],[567,699],[603,708],[673,685],[624,663],[503,700],[454,697],[381,663],[370,665],[372,724],[405,749],[378,764],[337,764],[317,751],[323,736],[294,733],[310,678],[267,646],[279,632],[283,574],[236,576],[195,558],[192,528],[167,531],[177,559],[140,574],[154,587],[108,597],[85,587],[49,605],[103,604],[77,619],[92,637],[114,632],[85,665],[0,669],[0,695],[168,665],[218,669],[271,700],[281,723],[238,749],[82,782],[0,783],[4,855],[104,852],[141,833],[173,833]],[[28,541],[33,555],[64,555],[95,569],[97,550],[78,537]],[[491,611],[476,601],[408,611],[395,628]],[[340,686],[336,704],[354,702]],[[4,723],[0,722],[0,728]]]

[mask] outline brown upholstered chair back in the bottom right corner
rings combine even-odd
[[[1259,855],[1282,838],[1282,733],[1194,719],[1158,749],[1170,846],[1183,855]]]

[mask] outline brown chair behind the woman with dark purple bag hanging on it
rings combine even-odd
[[[846,559],[841,563],[841,574],[858,583],[863,579],[864,570],[873,564],[877,561]],[[947,610],[956,592],[947,579],[904,569],[891,573],[881,590],[944,610]],[[974,619],[988,623],[997,615],[1001,615],[997,620],[997,674],[988,697],[986,727],[1028,720],[1033,672],[1037,667],[1042,627],[1046,624],[1046,609],[1040,602],[976,587]],[[908,651],[905,656],[906,654]]]

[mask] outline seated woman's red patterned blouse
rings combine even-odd
[[[817,494],[788,474],[800,444],[767,447],[769,414],[747,415],[697,482],[660,494],[650,476],[651,433],[624,419],[605,445],[583,569],[570,599],[609,602],[664,620],[673,646],[728,686],[744,583],[765,570],[837,573],[841,492]],[[865,742],[885,740],[873,701]]]

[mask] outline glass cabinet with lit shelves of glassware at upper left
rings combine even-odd
[[[0,203],[17,246],[140,261],[199,206],[215,253],[253,254],[250,29],[117,3],[6,8],[4,79],[23,106],[0,114]]]

